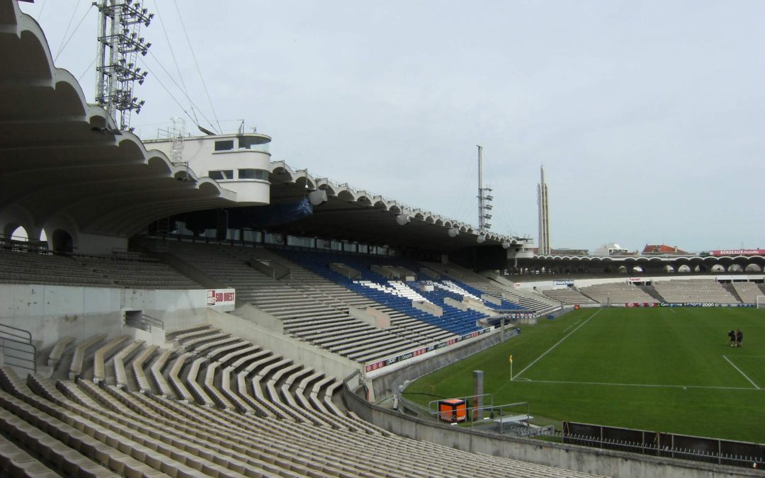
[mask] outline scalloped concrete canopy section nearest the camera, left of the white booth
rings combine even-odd
[[[103,108],[54,66],[43,31],[0,0],[0,213],[42,227],[65,217],[81,232],[129,236],[155,219],[230,206],[214,180],[189,180],[137,136],[115,131]]]

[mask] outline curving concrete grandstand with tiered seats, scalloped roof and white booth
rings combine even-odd
[[[498,272],[528,240],[295,170],[258,133],[173,161],[86,102],[15,0],[0,52],[0,475],[705,473],[391,405],[519,320],[658,303],[659,281],[516,282]],[[705,279],[671,298],[763,294],[761,274]]]

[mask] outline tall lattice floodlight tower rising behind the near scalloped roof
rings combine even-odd
[[[141,25],[148,27],[154,14],[133,0],[99,0],[94,5],[99,10],[96,103],[106,109],[117,129],[132,131],[130,114],[141,112],[145,103],[133,96],[133,86],[148,76],[135,62],[151,47],[140,36]]]

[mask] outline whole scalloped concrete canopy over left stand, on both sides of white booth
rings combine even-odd
[[[233,191],[116,132],[77,80],[54,66],[43,31],[14,0],[0,0],[0,65],[0,217],[33,229],[63,219],[79,232],[126,237],[162,217],[237,206]],[[272,203],[327,192],[314,214],[275,232],[444,252],[526,242],[284,162],[272,162],[269,179]]]

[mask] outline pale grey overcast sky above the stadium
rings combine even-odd
[[[90,3],[20,5],[92,100]],[[171,116],[196,134],[192,101],[274,160],[476,225],[483,145],[495,232],[536,239],[544,164],[555,248],[765,248],[762,0],[145,7],[142,138]]]

